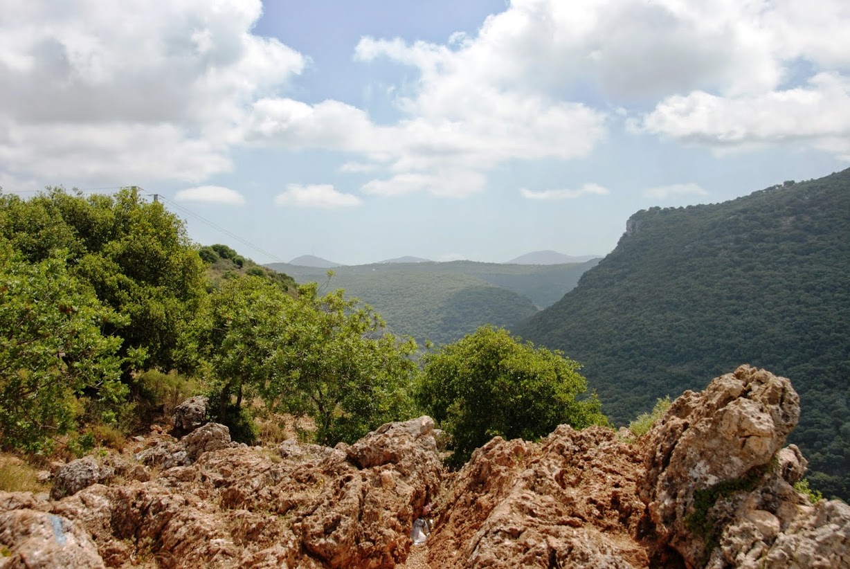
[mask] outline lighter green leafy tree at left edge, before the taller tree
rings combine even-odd
[[[100,331],[126,322],[65,270],[60,253],[30,264],[0,238],[3,447],[48,450],[75,426],[83,390],[108,404],[122,401],[121,339]]]

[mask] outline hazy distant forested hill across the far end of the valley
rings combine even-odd
[[[482,324],[513,327],[553,304],[595,265],[501,265],[449,263],[378,263],[334,269],[326,285],[344,288],[377,310],[394,333],[418,342],[445,344]],[[326,270],[286,264],[269,268],[297,282],[326,282]]]

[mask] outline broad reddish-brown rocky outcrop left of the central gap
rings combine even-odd
[[[234,447],[216,424],[181,441],[150,441],[135,456],[171,464],[150,481],[93,484],[44,503],[0,492],[0,512],[38,508],[81,528],[97,546],[91,566],[392,567],[405,561],[411,525],[442,476],[427,417],[336,449]],[[26,532],[9,523],[18,529],[3,533],[2,544],[17,555]],[[45,566],[77,566],[60,559]]]

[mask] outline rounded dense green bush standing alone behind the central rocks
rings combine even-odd
[[[450,463],[499,435],[533,440],[558,424],[608,424],[596,395],[562,352],[535,348],[503,328],[479,327],[423,357],[416,400],[452,436]]]

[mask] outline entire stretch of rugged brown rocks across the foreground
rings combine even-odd
[[[751,367],[685,393],[638,441],[562,425],[496,438],[457,473],[427,417],[350,447],[245,447],[192,405],[179,439],[62,465],[51,496],[0,492],[0,567],[850,566],[850,507],[793,487],[796,392]]]

